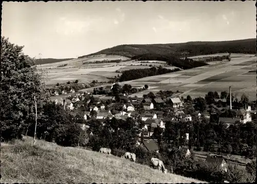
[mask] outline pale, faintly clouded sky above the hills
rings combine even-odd
[[[2,36],[36,58],[75,58],[122,44],[256,37],[255,1],[4,2]]]

